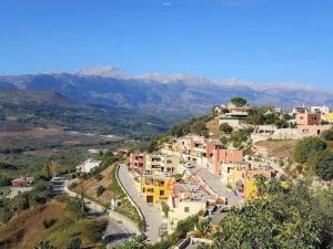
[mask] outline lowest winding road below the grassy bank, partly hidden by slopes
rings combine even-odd
[[[68,190],[65,188],[67,178],[65,177],[53,177],[51,179],[52,183],[52,194],[53,195],[61,195],[68,194],[69,196],[75,197],[77,194]],[[101,205],[84,199],[85,206],[88,207],[89,211],[88,215],[95,219],[108,219],[108,227],[104,231],[103,239],[108,243],[108,248],[112,248],[119,243],[124,242],[129,238],[133,238],[135,235],[131,231],[128,231],[123,226],[110,219],[107,210]]]

